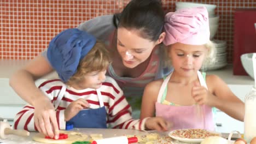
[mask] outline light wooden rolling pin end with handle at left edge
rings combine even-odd
[[[8,122],[0,122],[0,138],[1,139],[6,139],[7,135],[19,135],[19,136],[29,136],[30,132],[27,130],[13,130],[11,129],[10,125]]]

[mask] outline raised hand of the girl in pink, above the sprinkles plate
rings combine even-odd
[[[192,87],[191,90],[191,95],[196,101],[196,104],[199,105],[209,105],[212,106],[212,101],[214,99],[214,95],[211,94],[208,89],[205,87],[201,86],[199,82],[195,82],[194,86]]]

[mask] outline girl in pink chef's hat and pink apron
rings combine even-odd
[[[178,10],[165,16],[166,38],[174,71],[165,79],[150,82],[142,99],[141,118],[160,116],[174,129],[214,130],[212,107],[243,121],[245,105],[216,75],[199,71],[213,60],[205,7]]]

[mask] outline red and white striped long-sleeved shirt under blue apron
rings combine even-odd
[[[55,101],[61,91],[62,86],[65,85],[61,80],[49,80],[43,82],[39,88],[49,97],[51,103]],[[147,118],[142,120],[132,119],[131,106],[127,103],[123,91],[118,86],[117,82],[111,77],[106,77],[100,87],[102,100],[107,111],[107,126],[108,128],[121,129],[136,129],[144,130]],[[86,99],[90,104],[91,109],[100,108],[96,89],[86,88],[77,90],[67,86],[66,92],[56,109],[57,122],[60,129],[66,128],[64,111],[72,101],[79,98]],[[37,130],[34,124],[34,107],[26,105],[14,118],[14,129]]]

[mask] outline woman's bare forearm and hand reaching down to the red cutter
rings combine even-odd
[[[59,127],[53,104],[35,85],[34,81],[53,71],[49,61],[38,55],[25,67],[15,71],[9,84],[14,91],[29,104],[34,106],[34,123],[37,130],[50,137],[59,137]],[[24,85],[26,83],[26,85]]]

